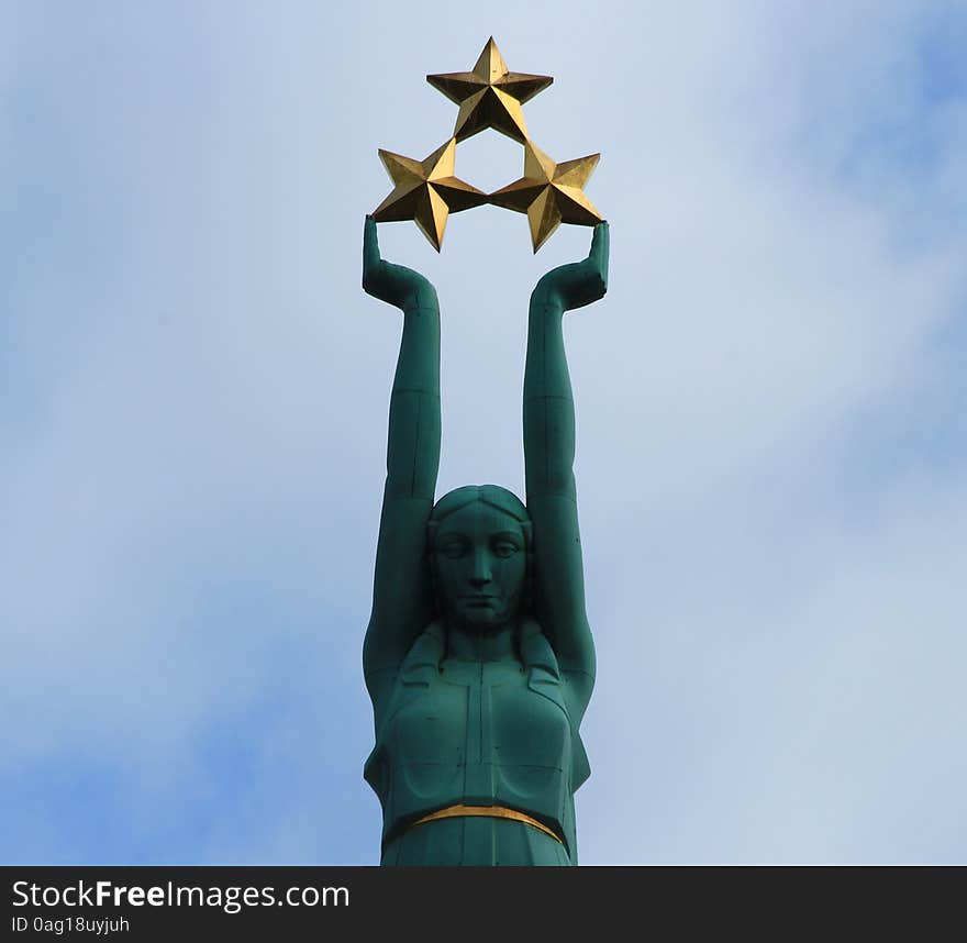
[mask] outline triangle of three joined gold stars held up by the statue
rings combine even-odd
[[[473,71],[426,80],[459,106],[453,136],[424,160],[380,149],[393,190],[374,211],[377,222],[413,220],[440,252],[449,213],[489,202],[527,214],[537,252],[560,223],[593,226],[602,221],[583,193],[601,155],[556,164],[527,135],[521,106],[547,88],[551,76],[509,71],[491,37]],[[524,176],[490,195],[454,176],[457,142],[488,127],[524,145]]]

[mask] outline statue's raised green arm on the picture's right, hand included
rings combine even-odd
[[[538,619],[587,705],[594,683],[594,645],[585,610],[585,578],[574,477],[575,414],[564,348],[564,312],[603,297],[609,232],[599,223],[591,252],[548,271],[531,295],[524,368],[524,465],[534,525]]]

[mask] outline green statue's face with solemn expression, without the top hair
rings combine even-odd
[[[520,523],[504,511],[474,501],[444,518],[432,564],[446,618],[486,631],[520,612],[527,554]]]

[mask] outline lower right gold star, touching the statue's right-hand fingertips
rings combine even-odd
[[[490,202],[519,213],[531,223],[534,252],[562,223],[593,226],[603,221],[583,187],[598,164],[600,154],[555,164],[530,141],[524,142],[524,176],[496,193]]]

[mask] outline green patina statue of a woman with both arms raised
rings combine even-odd
[[[608,224],[531,296],[526,506],[494,485],[436,503],[440,309],[384,262],[366,220],[363,287],[403,312],[389,411],[373,614],[363,662],[384,865],[577,864],[579,726],[594,684],[574,479],[565,311],[607,290]]]

